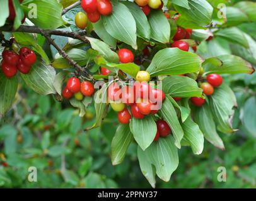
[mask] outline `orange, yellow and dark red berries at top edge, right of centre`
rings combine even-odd
[[[151,9],[161,10],[163,8],[161,0],[135,0],[135,3],[141,7],[146,16],[149,15]]]

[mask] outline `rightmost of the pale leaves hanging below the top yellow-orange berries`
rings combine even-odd
[[[171,28],[163,11],[151,10],[148,16],[148,21],[151,28],[151,38],[160,43],[168,43],[170,40]]]

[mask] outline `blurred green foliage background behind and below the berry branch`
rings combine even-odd
[[[179,151],[180,163],[170,182],[157,188],[256,187],[256,74],[225,77],[238,99],[235,134],[220,133],[226,150],[207,141],[201,155],[189,147]],[[117,116],[110,111],[101,128],[84,131],[94,122],[93,106],[82,119],[67,102],[37,95],[20,82],[13,109],[1,119],[1,188],[150,188],[139,168],[136,143],[121,165],[112,166],[110,144]],[[28,167],[37,168],[37,182],[28,182]],[[218,182],[219,166],[226,182]]]

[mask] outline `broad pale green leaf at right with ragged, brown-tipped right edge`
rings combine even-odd
[[[236,106],[236,97],[226,84],[215,88],[214,94],[209,96],[209,103],[217,124],[217,129],[223,133],[233,133],[231,120],[234,114],[233,107]]]

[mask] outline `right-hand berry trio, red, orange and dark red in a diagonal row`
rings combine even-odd
[[[218,74],[209,74],[206,77],[207,82],[201,84],[202,92],[206,95],[212,95],[214,93],[214,87],[219,87],[222,84],[222,77]],[[191,97],[191,102],[195,106],[201,107],[206,99],[201,97]]]

